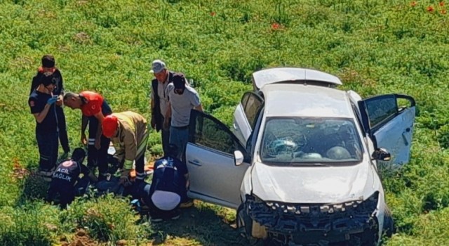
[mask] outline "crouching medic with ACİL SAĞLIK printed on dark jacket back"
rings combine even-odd
[[[82,193],[79,188],[85,191],[89,179],[95,181],[95,176],[83,165],[84,157],[86,157],[86,152],[82,148],[76,148],[70,160],[60,162],[51,178],[46,198],[48,202],[53,201],[59,194],[60,207],[65,209],[73,202],[75,195]]]

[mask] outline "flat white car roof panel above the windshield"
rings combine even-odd
[[[346,91],[310,84],[267,84],[260,91],[267,117],[354,118]]]

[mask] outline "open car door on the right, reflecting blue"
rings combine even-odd
[[[375,148],[385,148],[391,160],[383,164],[399,165],[410,160],[415,122],[415,99],[400,94],[375,96],[358,101],[363,128]]]

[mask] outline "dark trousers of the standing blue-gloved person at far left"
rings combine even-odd
[[[51,171],[58,159],[58,131],[36,132],[39,148],[39,170]]]

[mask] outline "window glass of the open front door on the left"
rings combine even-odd
[[[191,119],[189,142],[230,155],[234,150],[246,152],[236,136],[214,117],[192,110]]]

